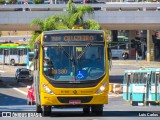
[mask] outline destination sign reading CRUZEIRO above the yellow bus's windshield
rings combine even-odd
[[[44,42],[80,42],[80,41],[103,41],[102,34],[47,34]]]

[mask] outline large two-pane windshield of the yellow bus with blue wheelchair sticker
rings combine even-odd
[[[43,72],[50,80],[96,80],[104,75],[103,45],[45,46]]]

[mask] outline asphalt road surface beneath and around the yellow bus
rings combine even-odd
[[[16,66],[17,67],[17,66]],[[21,67],[21,66],[20,66]],[[112,76],[123,76],[123,72],[127,66],[116,66],[111,71],[110,74]],[[19,84],[16,83],[14,74],[15,67],[10,66],[4,69],[4,73],[1,73],[1,79],[3,82],[0,82],[0,115],[4,111],[12,111],[19,112],[20,114],[28,111],[35,112],[35,105],[29,106],[27,105],[26,95],[23,95],[17,92],[13,87],[8,87],[8,85],[14,85],[14,87],[20,87]],[[114,75],[115,74],[115,75]],[[32,117],[32,119],[36,120],[48,120],[48,119],[59,119],[59,120],[159,120],[160,118],[160,106],[131,106],[126,101],[122,100],[121,96],[113,96],[109,97],[109,104],[104,105],[104,113],[103,116],[95,116],[94,114],[84,115],[82,109],[80,108],[67,108],[67,109],[56,109],[52,108],[51,117]],[[154,113],[154,114],[153,114]],[[151,117],[147,115],[158,115],[158,117]],[[146,115],[146,116],[144,116]],[[141,116],[141,117],[140,117]],[[0,118],[0,119],[3,119]],[[5,117],[5,120],[11,119],[9,117]],[[22,119],[21,117],[14,117],[12,119]]]

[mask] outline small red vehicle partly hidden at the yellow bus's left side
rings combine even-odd
[[[28,105],[34,105],[35,104],[35,96],[34,96],[34,86],[27,86],[28,92],[27,92],[27,104]]]

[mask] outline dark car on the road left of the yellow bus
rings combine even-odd
[[[17,82],[21,80],[33,80],[33,76],[31,75],[31,71],[26,68],[17,69],[15,73],[15,77]]]

